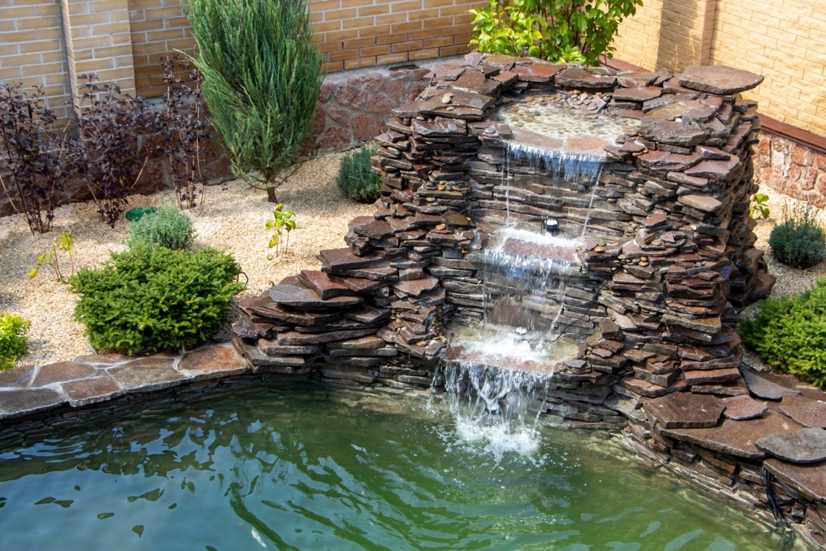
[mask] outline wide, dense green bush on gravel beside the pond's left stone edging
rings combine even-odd
[[[113,253],[101,268],[81,268],[70,279],[80,295],[74,319],[103,352],[192,349],[220,328],[244,288],[239,273],[235,260],[216,249]]]

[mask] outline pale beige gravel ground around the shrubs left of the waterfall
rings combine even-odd
[[[353,202],[336,188],[341,156],[328,154],[301,164],[278,188],[278,201],[296,213],[297,229],[290,235],[287,252],[272,260],[267,259],[272,232],[264,223],[272,217],[273,205],[265,193],[235,181],[207,188],[206,200],[190,213],[197,231],[195,246],[225,249],[235,257],[249,278],[247,290],[238,298],[257,295],[301,269],[317,269],[316,254],[345,246],[347,223],[373,213],[372,205]],[[129,207],[174,200],[173,192],[135,195],[129,198]],[[47,235],[31,235],[22,215],[0,218],[0,311],[31,321],[29,354],[20,363],[59,362],[89,352],[83,325],[71,317],[75,296],[68,286],[56,283],[45,266],[36,278],[28,277],[38,256],[51,249],[50,241],[60,233],[71,231],[76,264],[92,266],[107,259],[110,251],[126,249],[128,227],[127,221],[118,222],[114,230],[103,224],[91,202],[60,207],[55,228]],[[228,325],[222,334],[229,336]]]

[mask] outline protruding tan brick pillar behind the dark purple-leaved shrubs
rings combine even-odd
[[[135,95],[127,0],[60,0],[69,86],[74,96],[82,74],[95,73],[101,83],[118,83],[121,93]]]

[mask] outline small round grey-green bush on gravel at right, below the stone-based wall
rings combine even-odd
[[[769,235],[771,253],[792,268],[809,268],[826,258],[826,233],[809,205],[786,209]]]

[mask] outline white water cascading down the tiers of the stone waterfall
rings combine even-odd
[[[603,158],[509,143],[502,167],[506,227],[483,251],[481,334],[463,340],[463,354],[445,363],[447,401],[464,439],[487,439],[495,449],[531,449],[548,383],[558,359],[556,323],[563,311],[568,276],[577,266],[575,239],[510,226],[511,166],[563,178],[591,188],[590,213]],[[558,354],[558,358],[554,356]]]

